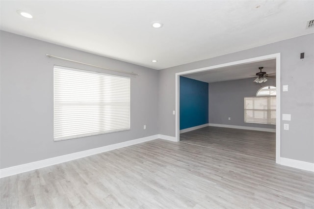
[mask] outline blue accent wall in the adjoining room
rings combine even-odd
[[[208,83],[180,77],[180,130],[208,123]]]

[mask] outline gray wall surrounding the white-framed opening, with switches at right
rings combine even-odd
[[[258,41],[258,40],[256,40]],[[209,49],[210,50],[210,49]],[[291,114],[289,131],[281,127],[281,157],[314,162],[314,34],[188,63],[159,72],[159,133],[175,136],[175,73],[281,52],[281,113]],[[305,59],[300,53],[305,52]],[[282,123],[283,124],[283,123]]]

